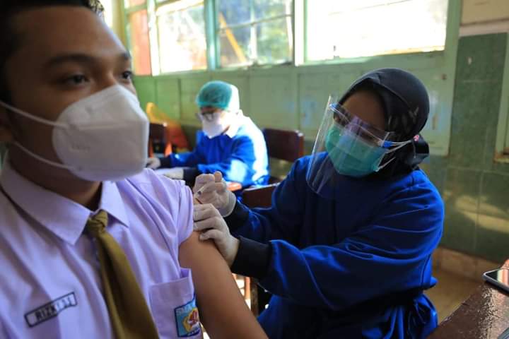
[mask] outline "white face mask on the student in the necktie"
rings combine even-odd
[[[23,145],[29,155],[69,169],[91,182],[117,181],[141,172],[147,159],[148,119],[136,95],[121,85],[69,105],[57,121],[35,117],[0,101],[0,105],[41,124],[54,126],[52,142],[62,164],[47,160]]]

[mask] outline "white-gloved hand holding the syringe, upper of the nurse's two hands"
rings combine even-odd
[[[221,172],[200,174],[194,181],[194,198],[199,203],[211,203],[223,217],[232,213],[237,198],[228,190]]]

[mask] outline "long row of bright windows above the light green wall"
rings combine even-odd
[[[296,3],[298,64],[445,49],[447,0]],[[292,0],[124,0],[124,6],[139,75],[293,61]]]

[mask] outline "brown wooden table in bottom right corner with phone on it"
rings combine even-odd
[[[503,268],[509,268],[509,259]],[[483,283],[428,338],[509,338],[509,293]]]

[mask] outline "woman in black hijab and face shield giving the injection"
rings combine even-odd
[[[271,208],[234,201],[219,174],[197,178],[194,229],[272,293],[259,316],[269,338],[426,338],[437,326],[423,294],[444,218],[419,169],[428,112],[418,78],[375,70],[329,100]]]

